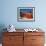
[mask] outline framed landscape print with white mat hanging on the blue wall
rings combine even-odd
[[[35,21],[35,7],[18,7],[17,8],[17,21]]]

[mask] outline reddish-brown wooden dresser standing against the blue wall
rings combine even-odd
[[[44,46],[44,32],[3,32],[3,46]]]

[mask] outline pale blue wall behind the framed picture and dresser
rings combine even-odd
[[[13,24],[16,28],[46,28],[45,0],[0,0],[0,25]],[[35,7],[35,22],[17,22],[17,7]],[[21,23],[21,24],[20,24]]]

